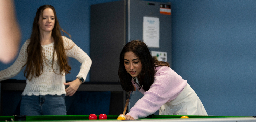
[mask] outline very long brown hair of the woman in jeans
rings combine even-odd
[[[56,52],[57,58],[58,58],[58,64],[60,66],[60,74],[62,72],[68,74],[69,71],[71,70],[71,67],[68,65],[68,57],[66,56],[66,53],[65,53],[64,44],[63,44],[62,35],[61,35],[61,31],[63,32],[63,34],[64,32],[65,33],[67,32],[60,27],[54,7],[51,5],[43,5],[38,8],[36,12],[36,16],[34,17],[32,33],[30,36],[30,43],[27,47],[28,58],[27,58],[26,64],[24,65],[26,67],[23,73],[24,73],[24,76],[29,80],[31,80],[33,76],[39,77],[43,73],[43,56],[42,56],[42,48],[40,43],[41,42],[40,31],[39,31],[40,28],[39,28],[38,22],[39,22],[40,16],[43,17],[42,13],[46,8],[51,8],[55,16],[55,25],[52,30],[52,37],[54,39],[52,68],[54,64],[53,63],[54,53]]]

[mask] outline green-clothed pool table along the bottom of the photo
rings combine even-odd
[[[120,121],[116,120],[119,115],[107,115],[107,120],[89,120],[89,115],[66,115],[66,116],[0,116],[0,121]],[[99,118],[99,115],[97,115]],[[150,115],[139,119],[143,121],[256,121],[254,116],[192,116],[180,118],[180,115]]]

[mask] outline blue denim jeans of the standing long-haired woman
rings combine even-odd
[[[67,115],[65,94],[61,96],[22,96],[20,115]]]

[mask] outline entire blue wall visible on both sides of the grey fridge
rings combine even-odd
[[[22,42],[30,37],[36,10],[51,4],[60,25],[90,54],[90,5],[98,1],[15,0]],[[209,115],[256,115],[256,1],[166,0],[172,3],[172,67],[188,81]],[[74,80],[80,64],[71,59]],[[0,64],[0,70],[11,65]],[[22,73],[14,77],[25,79]],[[86,79],[89,81],[89,75]]]

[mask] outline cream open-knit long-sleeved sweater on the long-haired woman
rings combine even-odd
[[[83,77],[86,79],[86,76],[91,67],[90,57],[78,47],[71,39],[62,36],[64,42],[64,48],[66,55],[77,59],[81,65],[80,72],[77,77]],[[27,61],[27,46],[30,39],[26,40],[23,44],[19,56],[16,61],[9,68],[0,71],[0,81],[9,79],[16,76],[21,70],[22,66]],[[31,81],[26,81],[26,87],[22,95],[61,95],[66,94],[65,85],[66,82],[65,73],[60,75],[59,65],[57,64],[57,55],[54,55],[54,64],[52,68],[52,57],[53,57],[54,42],[48,45],[42,45],[43,53],[43,73],[39,77],[33,77]],[[57,73],[54,73],[53,70]]]

